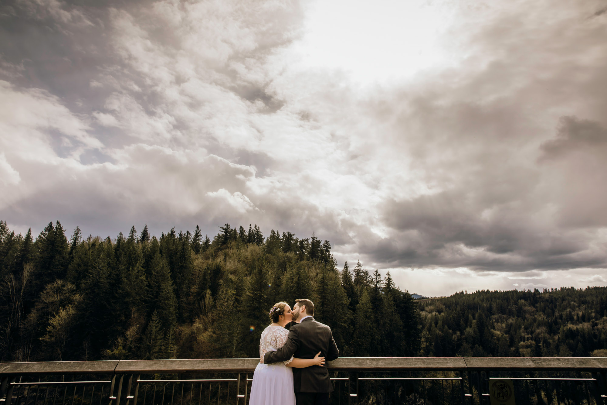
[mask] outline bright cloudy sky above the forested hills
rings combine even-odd
[[[605,0],[4,0],[0,219],[313,232],[426,295],[607,284]]]

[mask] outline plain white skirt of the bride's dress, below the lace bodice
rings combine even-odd
[[[295,405],[293,371],[282,362],[257,364],[249,405]]]

